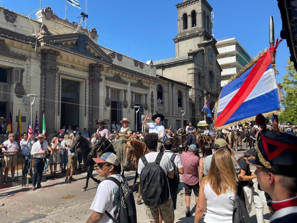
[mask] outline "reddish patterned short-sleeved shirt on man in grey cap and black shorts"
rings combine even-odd
[[[180,159],[184,167],[183,182],[188,185],[197,184],[199,181],[199,157],[191,152],[183,152]]]

